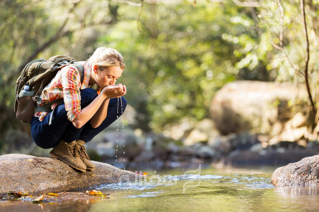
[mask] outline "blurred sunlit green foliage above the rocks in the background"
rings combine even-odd
[[[189,1],[144,3],[140,33],[139,7],[130,4],[2,1],[0,133],[21,126],[13,113],[19,66],[54,36],[58,38],[36,58],[67,54],[85,60],[99,46],[122,53],[126,70],[117,83],[127,85],[125,98],[137,110],[139,125],[145,130],[159,132],[165,124],[185,116],[209,117],[214,93],[236,79],[302,82],[291,66],[300,72],[304,68],[300,3],[280,3],[282,10],[276,1],[263,1],[257,8],[241,7],[231,0],[198,1],[196,6]],[[318,78],[317,7],[314,1],[306,5],[312,79]],[[59,29],[63,33],[58,33]],[[282,47],[289,59],[273,45],[281,45],[281,29]]]

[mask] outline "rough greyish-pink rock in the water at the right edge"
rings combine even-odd
[[[271,176],[271,183],[276,187],[319,186],[319,155],[277,168]]]

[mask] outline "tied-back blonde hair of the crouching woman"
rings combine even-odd
[[[91,64],[98,65],[100,70],[103,70],[111,65],[118,65],[123,70],[125,68],[122,55],[112,48],[99,47],[86,61],[90,62]]]

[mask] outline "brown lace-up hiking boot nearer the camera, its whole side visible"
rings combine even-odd
[[[70,167],[85,172],[86,166],[80,158],[79,148],[75,140],[70,143],[60,140],[49,155],[55,159],[60,159]]]

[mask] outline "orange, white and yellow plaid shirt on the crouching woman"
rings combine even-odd
[[[43,89],[41,93],[41,104],[38,105],[42,106],[55,99],[63,98],[65,110],[67,111],[68,119],[71,122],[82,111],[80,89],[85,89],[94,85],[89,84],[91,65],[85,61],[78,63],[84,65],[84,80],[82,85],[81,76],[77,69],[72,65],[65,66],[56,73],[56,76]],[[97,90],[98,94],[100,94],[100,92],[101,88]],[[51,110],[55,108],[56,104],[57,103],[52,104]],[[46,115],[48,115],[47,112],[38,112],[34,114],[34,116],[39,117],[40,121],[42,121]]]

